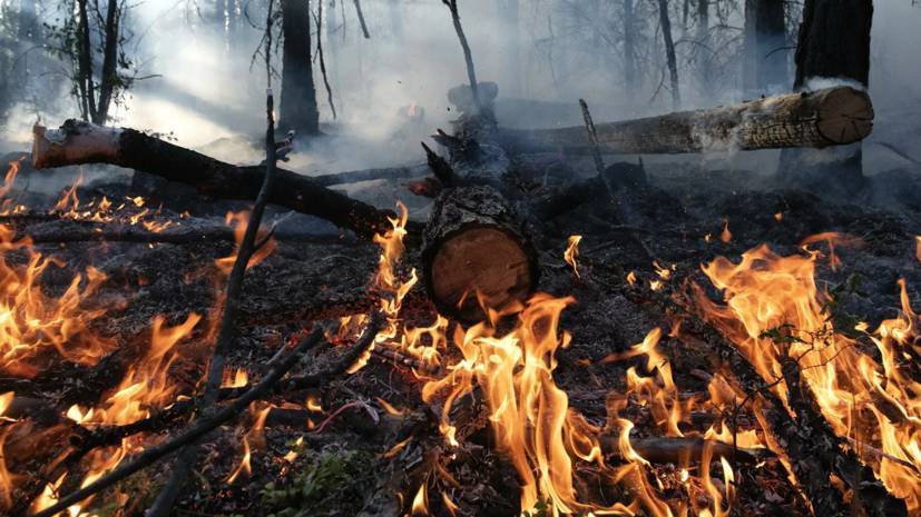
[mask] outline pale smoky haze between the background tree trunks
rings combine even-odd
[[[452,118],[445,92],[467,79],[447,8],[440,0],[363,0],[371,32],[371,39],[363,39],[352,1],[325,2],[327,12],[323,17],[322,38],[340,115],[335,125],[330,125],[326,92],[315,70],[317,101],[324,129],[346,135],[349,141],[340,149],[347,152],[317,159],[313,168],[334,171],[418,161],[421,156],[418,147],[391,145],[394,133],[404,129],[398,110],[410,103],[425,109],[424,126],[414,129],[419,135],[410,135],[421,138],[434,128],[444,127]],[[256,59],[252,67],[251,62],[262,37],[267,2],[244,1],[253,24],[259,27],[244,21],[239,30],[232,32],[233,40],[208,19],[210,13],[206,11],[213,9],[213,2],[199,3],[200,11],[190,2],[176,0],[146,0],[130,9],[128,23],[134,36],[126,50],[140,64],[140,76],[156,77],[136,84],[126,106],[115,111],[116,122],[172,132],[179,143],[189,147],[206,146],[219,138],[255,138],[263,125],[265,68],[262,59]],[[660,87],[663,81],[658,79],[664,78],[664,57],[654,2],[637,2],[643,38],[647,39],[639,50],[640,66],[646,70],[639,91],[627,91],[621,80],[620,2],[520,0],[517,29],[503,18],[500,0],[460,0],[459,3],[479,78],[497,81],[500,99],[521,97],[560,102],[576,113],[576,101],[586,98],[597,120],[670,109],[667,83]],[[692,38],[682,33],[678,6],[682,2],[673,3],[676,4],[673,32],[680,61],[683,108],[742,100],[736,59],[744,24],[741,12],[726,9],[725,28],[712,31],[718,41],[713,43],[717,71],[711,84],[702,87],[695,73],[697,54],[689,42]],[[336,13],[331,26],[335,29],[333,34],[326,33],[325,24],[331,4]],[[312,7],[316,6],[313,1]],[[880,118],[874,138],[894,138],[904,133],[904,125],[911,122],[896,115],[911,111],[912,107],[914,116],[909,113],[908,118],[921,115],[918,108],[921,68],[917,57],[917,49],[921,48],[921,8],[912,7],[911,0],[878,0],[875,9],[870,89]],[[716,12],[711,17],[714,23],[718,21]],[[275,58],[275,66],[281,68],[281,57]],[[276,88],[280,82],[275,80]],[[708,96],[706,100],[702,98],[703,92]],[[66,93],[62,88],[61,96]],[[535,111],[533,107],[525,110]],[[41,113],[50,125],[76,115],[74,101],[60,102],[57,109]],[[533,123],[535,112],[518,115]],[[35,117],[28,107],[13,109],[6,140],[28,139],[28,128]],[[894,120],[890,129],[895,131],[888,130],[889,119]],[[558,121],[557,113],[548,117],[546,123]],[[500,120],[506,125],[518,122]],[[365,143],[370,150],[362,152]],[[241,153],[239,146],[229,148],[234,148],[235,153],[228,158],[241,161],[256,158]],[[228,153],[229,148],[214,150],[221,155]]]

